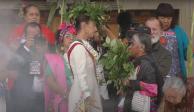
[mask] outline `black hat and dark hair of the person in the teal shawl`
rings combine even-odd
[[[170,28],[174,28],[176,25],[175,20],[175,9],[169,3],[160,3],[156,9],[156,17],[172,17],[172,22]]]

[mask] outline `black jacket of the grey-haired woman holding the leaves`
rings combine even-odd
[[[136,58],[134,65],[140,66],[140,70],[137,74],[137,80],[130,81],[124,104],[124,112],[133,112],[131,110],[131,101],[133,93],[140,90],[140,81],[157,84],[159,86],[159,93],[161,93],[161,86],[163,85],[163,79],[151,55],[144,55]],[[160,100],[160,98],[158,98],[158,100]]]

